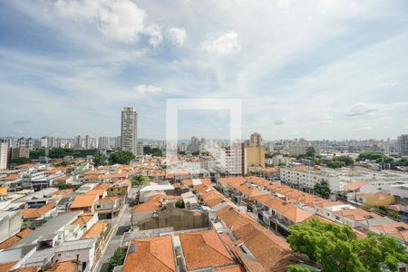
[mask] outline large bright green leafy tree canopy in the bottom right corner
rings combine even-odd
[[[384,234],[377,236],[369,232],[364,238],[357,238],[347,225],[338,226],[318,219],[289,229],[290,247],[319,263],[323,271],[395,271],[400,261],[408,261],[403,244]]]

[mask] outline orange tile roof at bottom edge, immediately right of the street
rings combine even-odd
[[[166,235],[157,238],[131,240],[122,272],[132,271],[176,271],[171,237]]]

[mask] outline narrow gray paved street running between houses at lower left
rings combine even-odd
[[[134,196],[134,189],[131,190],[131,197]],[[98,260],[93,272],[107,272],[109,259],[113,256],[116,249],[121,245],[121,237],[123,233],[131,228],[131,208],[125,204],[121,210],[121,214],[117,219],[112,220],[112,235],[109,241],[105,244],[102,256]]]

